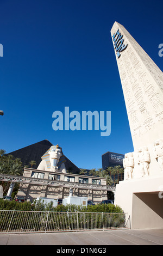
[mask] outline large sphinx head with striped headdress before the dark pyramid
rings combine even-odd
[[[66,159],[58,144],[49,148],[41,159],[37,169],[66,173]]]

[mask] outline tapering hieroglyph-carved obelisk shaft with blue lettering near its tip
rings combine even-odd
[[[138,159],[141,149],[149,153],[148,164],[154,168],[157,162],[153,154],[155,142],[163,138],[163,74],[117,22],[112,26],[111,37],[133,139],[134,162],[142,171]],[[145,172],[150,174],[150,168]]]

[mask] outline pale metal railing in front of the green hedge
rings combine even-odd
[[[126,213],[0,210],[0,234],[130,229]]]

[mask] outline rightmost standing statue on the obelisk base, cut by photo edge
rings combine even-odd
[[[154,142],[153,153],[163,173],[163,139]]]

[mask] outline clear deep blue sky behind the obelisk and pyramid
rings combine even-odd
[[[0,148],[48,139],[79,168],[133,151],[110,30],[121,23],[161,70],[162,1],[0,0]],[[54,131],[54,111],[111,111],[111,135]]]

